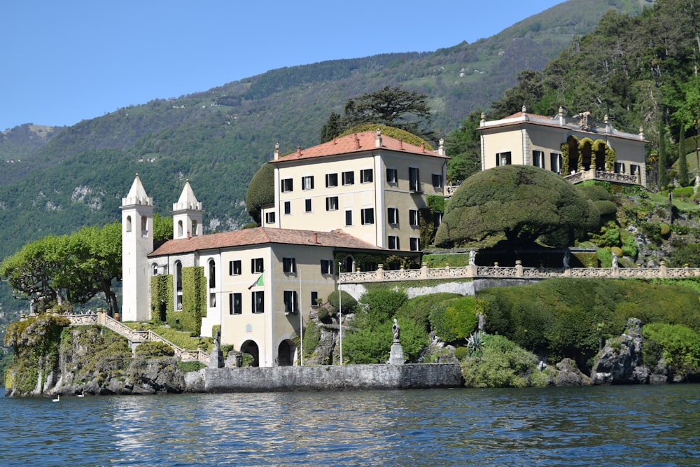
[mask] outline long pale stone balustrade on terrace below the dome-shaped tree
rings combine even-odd
[[[659,267],[648,268],[620,268],[620,267],[523,267],[520,261],[516,261],[514,267],[477,266],[463,267],[438,267],[428,268],[426,263],[420,269],[412,270],[384,270],[379,265],[376,271],[368,272],[342,272],[340,281],[343,284],[360,284],[363,282],[391,282],[391,281],[415,281],[421,279],[488,279],[488,278],[512,278],[512,279],[549,279],[552,277],[603,277],[609,279],[653,279],[656,277],[700,277],[700,268],[697,267],[666,267],[661,262]]]

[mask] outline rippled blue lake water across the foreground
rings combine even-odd
[[[0,397],[0,465],[698,466],[700,385]]]

